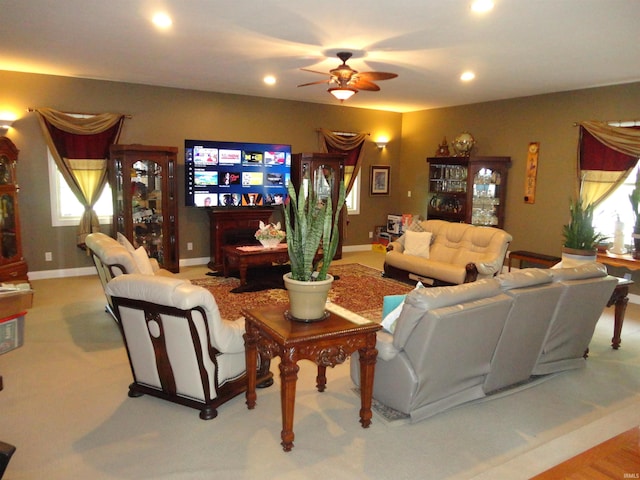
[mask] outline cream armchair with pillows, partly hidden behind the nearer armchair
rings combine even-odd
[[[170,271],[160,268],[155,258],[149,258],[144,247],[139,247],[136,250],[124,236],[118,234],[118,237],[120,241],[104,233],[96,232],[87,235],[85,240],[103,289],[106,289],[107,283],[111,279],[123,274],[173,276]],[[115,318],[111,299],[109,295],[106,296],[106,310]]]

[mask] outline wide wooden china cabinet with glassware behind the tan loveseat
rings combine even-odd
[[[431,157],[427,217],[504,228],[510,157]]]

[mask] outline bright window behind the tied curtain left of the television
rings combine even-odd
[[[75,227],[80,223],[80,218],[84,213],[84,207],[76,199],[76,196],[62,177],[51,152],[48,153],[48,157],[49,191],[51,192],[51,225],[54,227]],[[113,204],[109,184],[105,185],[100,199],[94,206],[94,210],[98,214],[101,224],[111,223]]]

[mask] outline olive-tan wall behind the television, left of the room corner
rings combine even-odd
[[[0,71],[0,84],[0,112],[13,112],[19,117],[7,136],[20,149],[22,234],[31,272],[92,264],[75,246],[74,227],[51,227],[47,151],[36,114],[27,113],[28,107],[130,114],[133,118],[125,122],[120,143],[177,146],[181,259],[209,256],[208,216],[202,210],[184,207],[186,138],[290,143],[294,152],[309,152],[318,151],[318,127],[370,132],[362,214],[350,218],[346,243],[369,242],[368,232],[384,221],[384,212],[395,201],[393,196],[369,198],[367,192],[370,165],[398,168],[402,122],[398,113],[6,71]],[[378,135],[391,139],[382,152],[373,144]],[[105,231],[110,232],[110,228]],[[187,252],[187,242],[194,244],[193,251]],[[44,261],[44,252],[52,252],[52,262]]]

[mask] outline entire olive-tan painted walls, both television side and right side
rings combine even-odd
[[[558,254],[561,229],[572,195],[579,120],[637,119],[640,83],[556,93],[397,114],[333,105],[149,87],[98,80],[0,71],[0,112],[19,115],[8,133],[20,149],[18,176],[24,253],[30,271],[90,266],[75,247],[75,228],[51,227],[46,146],[35,114],[27,107],[62,111],[131,114],[120,143],[174,145],[183,166],[185,138],[290,143],[294,152],[317,151],[316,128],[366,131],[371,140],[388,136],[386,149],[367,145],[361,215],[351,216],[347,245],[368,243],[368,233],[387,213],[426,213],[427,164],[446,136],[463,130],[477,140],[478,155],[505,155],[513,161],[508,181],[505,228],[513,249]],[[536,203],[525,204],[524,162],[529,142],[539,141]],[[369,167],[391,165],[391,195],[370,197]],[[207,215],[182,206],[179,171],[181,259],[208,257]],[[408,197],[407,192],[412,196]],[[110,229],[107,229],[110,231]],[[194,250],[187,252],[192,242]],[[53,262],[44,261],[44,252]]]

